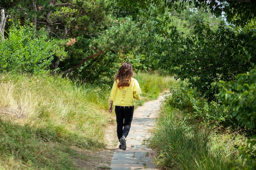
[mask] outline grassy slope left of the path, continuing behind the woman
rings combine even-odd
[[[142,90],[137,105],[171,84],[171,78],[165,81],[157,72],[135,78]],[[78,170],[76,159],[95,158],[77,150],[104,148],[99,139],[106,126],[115,124],[108,113],[110,87],[1,74],[0,89],[0,170]]]

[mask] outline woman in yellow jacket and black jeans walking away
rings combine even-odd
[[[133,78],[132,64],[124,63],[117,71],[115,82],[110,93],[110,106],[108,111],[112,113],[112,105],[115,105],[117,117],[117,137],[119,148],[126,150],[126,137],[130,131],[135,100],[140,100],[141,89],[139,83]]]

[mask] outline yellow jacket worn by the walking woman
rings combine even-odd
[[[111,93],[110,101],[113,101],[115,106],[134,106],[134,99],[140,100],[141,89],[136,79],[132,78],[129,87],[119,89],[115,81]]]

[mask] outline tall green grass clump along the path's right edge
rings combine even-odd
[[[231,170],[239,161],[233,145],[241,141],[233,135],[188,124],[164,105],[148,144],[157,151],[157,166],[166,170]]]

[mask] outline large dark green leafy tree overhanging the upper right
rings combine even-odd
[[[209,23],[198,22],[194,28],[195,35],[185,37],[171,25],[171,15],[165,15],[162,19],[160,14],[166,10],[180,13],[189,3],[198,9],[203,9],[202,11],[209,10],[216,16],[226,12],[228,21],[246,27],[245,24],[256,17],[254,1],[150,0],[127,3],[119,0],[118,2],[122,7],[135,11],[136,14],[152,7],[156,8],[157,35],[151,51],[158,62],[158,67],[174,73],[177,78],[189,79],[192,86],[209,101],[216,100],[218,93],[216,88],[211,88],[211,82],[230,81],[235,79],[237,74],[248,71],[254,66],[256,60],[254,28],[234,29],[222,23],[217,30],[212,30]],[[248,40],[251,42],[249,43]]]

